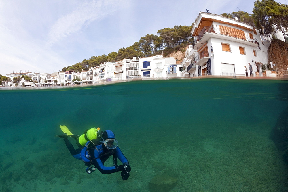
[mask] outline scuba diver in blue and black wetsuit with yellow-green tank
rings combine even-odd
[[[60,126],[64,134],[56,135],[64,139],[64,142],[70,151],[71,155],[79,160],[83,160],[86,166],[86,172],[91,174],[97,168],[102,174],[110,174],[121,171],[123,180],[127,180],[130,176],[131,167],[127,158],[123,155],[118,147],[118,141],[115,139],[115,134],[110,131],[100,131],[98,127],[87,129],[81,136],[72,134],[66,126]],[[68,140],[72,137],[76,140],[78,149],[74,149],[73,145]],[[104,166],[105,161],[113,155],[113,166]],[[117,158],[123,163],[117,165]]]

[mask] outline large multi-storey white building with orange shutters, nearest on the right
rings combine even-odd
[[[253,75],[262,75],[267,63],[269,42],[247,23],[217,14],[200,12],[193,24],[194,65],[187,73],[194,76],[245,76],[250,63]],[[192,61],[193,62],[193,61]]]

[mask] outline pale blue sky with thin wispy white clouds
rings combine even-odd
[[[252,13],[253,2],[0,0],[0,74],[59,72],[92,56],[118,52],[160,29],[190,26],[206,9]]]

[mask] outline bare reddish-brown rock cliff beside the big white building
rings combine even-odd
[[[268,66],[271,61],[277,64],[279,76],[287,76],[288,44],[278,39],[273,40],[268,48]]]

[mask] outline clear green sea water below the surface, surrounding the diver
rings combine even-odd
[[[66,89],[0,90],[0,191],[287,191],[288,166],[269,135],[288,107],[288,81],[133,81]],[[88,175],[62,139],[112,130],[131,165]],[[72,141],[72,140],[71,140]],[[118,164],[121,164],[118,161]],[[108,160],[105,165],[112,166]]]

